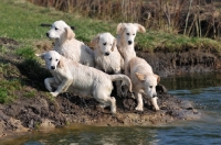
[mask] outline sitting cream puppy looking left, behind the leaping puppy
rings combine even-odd
[[[83,42],[75,40],[74,32],[64,21],[55,21],[46,36],[55,40],[54,51],[61,55],[94,67],[94,52]]]

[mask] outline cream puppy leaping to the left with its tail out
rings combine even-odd
[[[64,91],[73,91],[80,96],[92,94],[102,108],[110,105],[112,113],[116,113],[116,100],[110,97],[112,81],[123,80],[131,92],[130,79],[125,75],[107,75],[96,68],[75,63],[55,51],[43,53],[40,56],[53,75],[45,78],[44,85],[53,97]],[[56,88],[52,91],[52,88]]]

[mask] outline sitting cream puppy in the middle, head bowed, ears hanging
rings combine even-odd
[[[92,41],[95,48],[95,67],[107,74],[122,74],[124,59],[116,47],[116,38],[110,33],[98,34]],[[120,81],[116,81],[117,96],[122,96]]]

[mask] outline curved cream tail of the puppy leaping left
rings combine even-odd
[[[131,92],[131,81],[126,75],[109,75],[109,78],[112,81],[123,80],[122,86],[128,86],[129,92]]]

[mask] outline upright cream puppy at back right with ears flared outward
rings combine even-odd
[[[136,57],[134,48],[134,41],[137,32],[145,33],[146,30],[143,25],[137,23],[119,23],[117,25],[117,48],[125,60],[125,75],[129,76],[126,69],[129,60]]]

